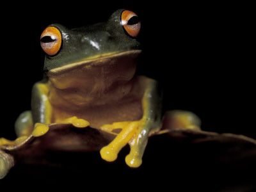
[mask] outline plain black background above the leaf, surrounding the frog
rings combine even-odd
[[[42,79],[39,38],[44,28],[102,22],[118,8],[129,8],[141,19],[138,74],[161,82],[164,109],[195,112],[205,131],[256,138],[249,5],[34,2],[1,6],[1,137],[15,138],[14,121],[30,109],[31,87]]]

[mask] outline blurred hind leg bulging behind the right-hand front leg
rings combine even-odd
[[[163,118],[162,130],[200,130],[200,118],[190,111],[167,111]]]

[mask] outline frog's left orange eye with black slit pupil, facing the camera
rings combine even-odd
[[[54,27],[44,29],[40,44],[44,52],[50,56],[57,54],[61,47],[61,33],[60,30]]]

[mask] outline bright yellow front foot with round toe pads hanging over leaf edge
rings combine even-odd
[[[130,154],[125,157],[125,162],[131,167],[140,166],[148,140],[148,129],[147,126],[145,126],[145,120],[116,122],[112,125],[100,127],[100,129],[104,131],[113,131],[118,128],[122,129],[122,131],[109,145],[100,150],[100,156],[106,161],[115,161],[118,152],[129,143],[131,151]]]

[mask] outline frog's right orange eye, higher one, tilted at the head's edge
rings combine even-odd
[[[125,31],[132,37],[136,37],[140,33],[140,19],[136,13],[124,10],[121,14],[121,24]]]

